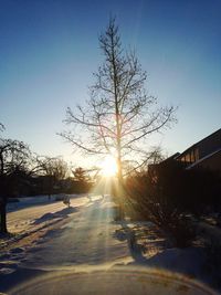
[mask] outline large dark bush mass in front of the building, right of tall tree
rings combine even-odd
[[[176,160],[149,167],[148,172],[127,179],[126,188],[137,218],[150,220],[169,232],[175,244],[188,245],[194,233],[188,214],[200,215],[220,206],[220,176],[187,170]]]

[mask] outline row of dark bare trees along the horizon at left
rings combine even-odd
[[[23,141],[4,138],[0,124],[0,232],[7,233],[7,203],[17,197],[86,192],[92,187],[83,168],[71,176],[61,157],[38,156]]]

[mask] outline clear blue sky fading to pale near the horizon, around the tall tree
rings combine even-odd
[[[64,129],[66,107],[88,98],[92,73],[103,61],[97,36],[109,14],[124,45],[136,48],[149,93],[179,106],[162,147],[182,151],[221,127],[220,0],[0,0],[6,137],[76,164],[56,133]]]

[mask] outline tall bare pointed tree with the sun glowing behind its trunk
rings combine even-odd
[[[61,135],[88,155],[115,156],[122,182],[124,162],[134,158],[141,166],[145,139],[170,125],[175,108],[158,107],[157,99],[147,95],[147,73],[134,51],[124,51],[115,19],[101,34],[99,46],[105,60],[94,74],[91,99],[77,112],[67,108],[65,123],[73,129]]]

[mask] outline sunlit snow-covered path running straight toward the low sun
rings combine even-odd
[[[28,251],[21,266],[59,270],[78,264],[114,263],[129,256],[127,241],[114,235],[119,225],[113,222],[114,208],[108,197],[62,211],[70,214],[69,222],[41,238]]]

